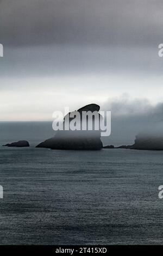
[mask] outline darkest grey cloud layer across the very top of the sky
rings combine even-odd
[[[4,45],[155,45],[161,0],[1,0]]]

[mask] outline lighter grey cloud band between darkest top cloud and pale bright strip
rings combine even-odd
[[[33,46],[4,47],[0,75],[42,77],[78,74],[161,76],[158,49],[137,47]]]

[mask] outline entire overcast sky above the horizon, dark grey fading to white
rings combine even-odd
[[[158,110],[162,9],[161,0],[1,0],[0,121],[52,120],[89,103],[121,116]]]

